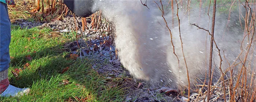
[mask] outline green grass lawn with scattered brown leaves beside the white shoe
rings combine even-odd
[[[91,59],[67,59],[63,44],[72,41],[72,34],[48,38],[51,30],[37,28],[20,29],[12,26],[10,44],[11,64],[9,80],[16,87],[29,87],[31,92],[22,97],[0,98],[0,102],[64,102],[69,98],[86,98],[88,102],[120,102],[124,91],[120,87],[109,88],[106,76],[91,68]],[[27,60],[30,55],[32,60]],[[26,63],[30,65],[24,67]],[[68,71],[61,74],[64,68]],[[22,71],[15,77],[11,71]],[[63,80],[69,84],[63,85]],[[78,85],[79,84],[79,85]]]

